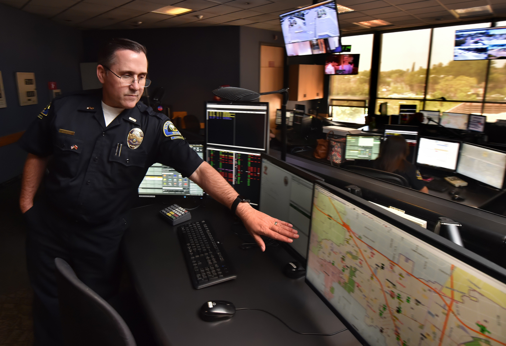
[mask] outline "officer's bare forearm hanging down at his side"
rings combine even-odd
[[[41,158],[28,153],[23,169],[21,180],[21,195],[19,196],[19,207],[24,214],[33,206],[33,198],[37,193],[38,186],[44,177],[49,158]]]

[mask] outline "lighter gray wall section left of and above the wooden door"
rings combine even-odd
[[[260,46],[262,44],[284,47],[283,34],[278,31],[240,27],[240,84],[231,86],[239,86],[256,92],[260,90]]]

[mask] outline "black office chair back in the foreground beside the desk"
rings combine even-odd
[[[61,258],[55,258],[58,301],[65,344],[72,346],[136,346],[121,316],[86,286]]]

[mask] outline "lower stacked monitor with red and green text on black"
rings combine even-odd
[[[241,196],[260,202],[260,152],[207,147],[206,160]],[[257,208],[254,206],[254,208]]]

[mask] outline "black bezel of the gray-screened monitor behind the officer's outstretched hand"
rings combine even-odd
[[[305,179],[307,181],[311,181],[313,183],[313,193],[311,194],[311,201],[313,201],[314,199],[314,184],[316,181],[324,181],[323,178],[313,174],[313,173],[310,173],[300,167],[297,167],[295,165],[292,165],[292,164],[289,164],[287,163],[286,161],[282,161],[282,160],[279,160],[271,155],[268,155],[266,153],[262,153],[261,155],[261,161],[262,161],[262,167],[264,165],[264,159],[266,159],[267,161],[275,164],[276,166],[284,169],[285,171],[288,171],[289,173],[293,174],[293,175],[297,175],[298,177],[302,178],[302,179]],[[260,177],[260,190],[262,191],[262,172],[261,172],[261,177]],[[262,194],[262,192],[261,192]],[[261,195],[262,196],[262,195]],[[259,203],[259,210],[261,208],[261,205]],[[310,210],[310,213],[312,214],[313,213],[313,204],[311,203],[311,210]],[[310,224],[309,224],[309,227],[311,229],[311,218],[310,218]],[[295,258],[297,261],[299,261],[299,263],[301,265],[306,265],[306,261],[307,261],[307,257],[308,257],[308,249],[309,249],[309,237],[308,237],[308,245],[306,246],[306,257],[303,257],[296,249],[294,249],[289,243],[285,243],[285,242],[280,242],[281,243],[281,246],[283,246],[285,248],[285,250],[293,257]]]

